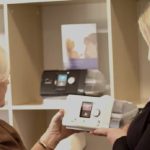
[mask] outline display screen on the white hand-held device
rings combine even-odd
[[[82,102],[80,117],[90,118],[92,107],[93,107],[93,103],[91,103],[91,102]]]

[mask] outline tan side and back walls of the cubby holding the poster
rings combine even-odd
[[[83,0],[83,2],[89,1]],[[99,2],[101,1],[99,0]],[[11,33],[9,34],[9,47],[13,92],[12,103],[14,105],[34,103],[33,100],[41,101],[39,89],[43,70],[64,68],[61,54],[62,24],[97,24],[98,33],[100,33],[97,38],[99,48],[98,63],[109,84],[106,4],[68,5],[66,2],[65,5],[47,5],[44,7],[39,7],[36,4],[9,5],[8,14],[9,33]],[[55,17],[56,14],[57,17]],[[14,44],[16,42],[18,43],[17,45]],[[43,108],[43,106],[37,107],[35,109]]]

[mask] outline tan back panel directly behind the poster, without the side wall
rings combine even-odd
[[[97,30],[107,29],[106,3],[83,3],[42,7],[44,68],[63,68],[61,25],[96,23]],[[56,19],[57,18],[57,19]],[[53,35],[53,36],[51,36]],[[52,42],[48,42],[52,41]],[[98,33],[99,69],[108,74],[107,32]],[[105,47],[104,47],[105,46]],[[103,59],[101,59],[103,57]],[[56,63],[55,60],[57,59]],[[107,67],[105,66],[107,65]],[[104,67],[105,66],[105,67]],[[109,77],[108,77],[109,78]]]

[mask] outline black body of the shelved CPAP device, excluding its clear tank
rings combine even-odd
[[[41,95],[84,95],[87,70],[46,70],[42,74]]]

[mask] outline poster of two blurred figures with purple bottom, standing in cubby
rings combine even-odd
[[[97,69],[96,24],[61,26],[62,56],[65,69]]]

